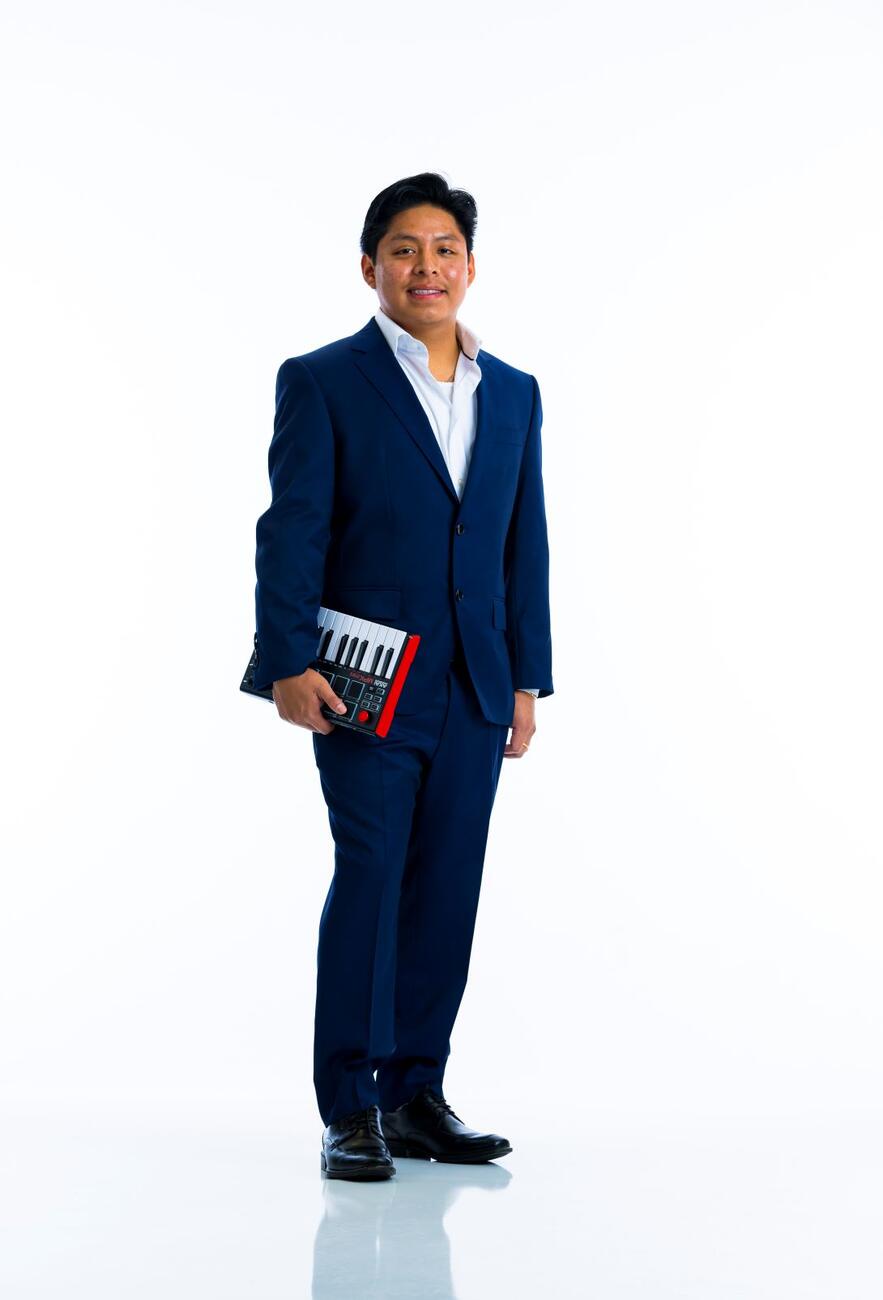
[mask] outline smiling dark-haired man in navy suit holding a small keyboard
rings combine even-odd
[[[553,694],[540,390],[456,320],[475,225],[436,173],[381,191],[362,234],[376,315],[277,376],[255,685],[313,733],[334,838],[313,1045],[330,1178],[512,1149],[442,1092],[502,759]],[[346,708],[310,667],[320,606],[421,637],[385,737],[320,711]]]

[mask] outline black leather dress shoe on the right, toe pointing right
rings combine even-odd
[[[498,1134],[480,1134],[475,1128],[467,1128],[443,1097],[428,1086],[420,1088],[398,1110],[386,1110],[381,1122],[391,1156],[473,1165],[507,1156],[512,1149],[506,1138]]]

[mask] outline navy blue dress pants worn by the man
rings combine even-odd
[[[442,1091],[507,737],[462,651],[432,705],[397,714],[388,736],[313,733],[334,840],[313,1041],[325,1124],[394,1110],[424,1083]]]

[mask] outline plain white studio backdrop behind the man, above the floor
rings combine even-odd
[[[9,1123],[278,1132],[315,1192],[332,840],[238,690],[254,529],[276,370],[368,320],[368,203],[429,169],[479,204],[462,318],[542,391],[555,684],[446,1095],[546,1171],[879,1134],[879,5],[92,0],[0,46]]]

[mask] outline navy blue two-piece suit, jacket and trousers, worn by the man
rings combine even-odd
[[[421,637],[386,737],[313,733],[336,846],[317,953],[325,1123],[441,1087],[514,685],[553,694],[540,389],[477,360],[462,500],[373,317],[277,376],[255,685],[308,667],[320,606]]]

